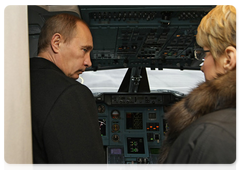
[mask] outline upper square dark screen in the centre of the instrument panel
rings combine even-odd
[[[143,129],[143,114],[139,112],[127,112],[126,129]]]

